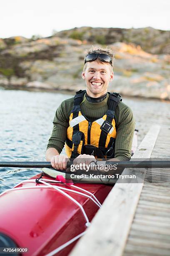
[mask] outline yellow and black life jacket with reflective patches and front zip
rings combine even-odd
[[[82,115],[80,104],[85,90],[76,92],[70,114],[65,151],[69,158],[80,154],[94,155],[96,158],[113,158],[115,153],[115,109],[121,100],[118,93],[110,93],[108,110],[101,118],[91,122]]]

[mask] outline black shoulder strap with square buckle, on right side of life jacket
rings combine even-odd
[[[107,117],[105,122],[102,124],[100,129],[102,130],[100,133],[100,139],[99,139],[99,148],[104,151],[105,150],[105,144],[107,139],[107,134],[110,132],[112,128],[112,120],[115,118],[115,110],[118,105],[118,103],[122,100],[121,95],[116,92],[108,92],[110,94],[110,98],[108,100],[108,110],[107,110]]]

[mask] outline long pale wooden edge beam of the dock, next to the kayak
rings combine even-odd
[[[135,152],[134,160],[150,158],[159,131],[159,125],[150,128]],[[140,174],[141,183],[133,183],[133,180],[123,183],[123,180],[118,179],[101,209],[93,218],[87,233],[78,241],[70,256],[122,255],[143,188],[146,169],[135,171],[125,169],[122,175],[130,174],[130,172]]]

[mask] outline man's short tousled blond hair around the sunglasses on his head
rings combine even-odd
[[[108,64],[110,65],[111,70],[113,70],[114,56],[113,56],[112,50],[110,48],[107,47],[107,48],[103,49],[103,48],[97,48],[95,46],[92,46],[89,50],[86,51],[85,56],[87,54],[107,54],[107,55],[109,55],[111,57],[112,66],[110,65],[110,63],[108,63]],[[84,59],[84,61],[85,61],[85,59]],[[101,61],[98,57],[97,57],[96,61],[103,64],[103,61]],[[105,63],[107,64],[107,62],[105,62]],[[83,72],[85,72],[86,68],[87,68],[87,62],[85,63],[85,65],[83,67]]]

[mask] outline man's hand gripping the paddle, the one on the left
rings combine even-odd
[[[64,155],[52,156],[51,165],[54,169],[65,170],[67,168],[68,161],[69,161],[68,156],[64,156]]]

